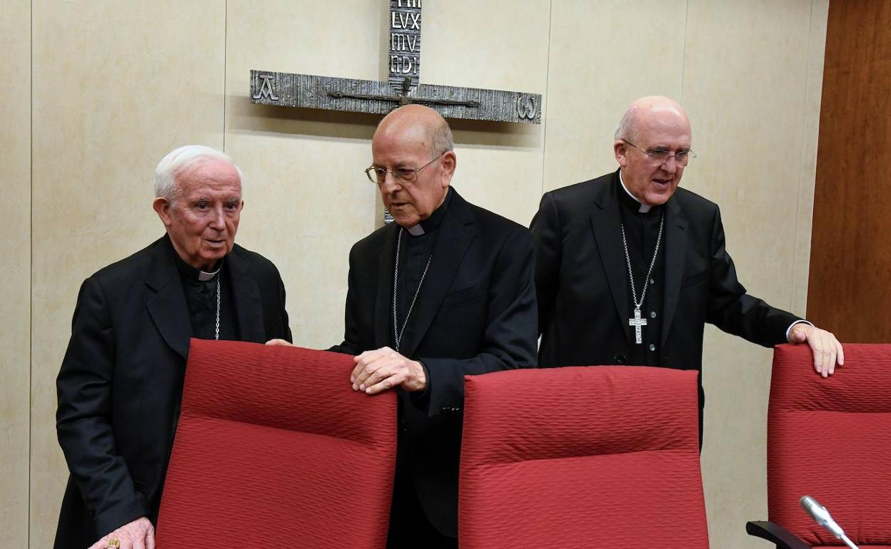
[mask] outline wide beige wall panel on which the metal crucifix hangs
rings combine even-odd
[[[449,3],[448,9],[425,4],[421,81],[544,93],[549,5],[512,6],[506,0]],[[294,341],[308,347],[342,338],[349,249],[380,226],[377,188],[362,173],[371,164],[379,117],[251,105],[249,70],[383,79],[388,4],[354,0],[340,7],[290,0],[228,4],[226,151],[249,180],[240,241],[282,271]],[[485,26],[463,22],[501,17],[501,36],[528,27],[530,13],[533,32],[507,47],[490,45]],[[527,70],[511,69],[517,66]],[[455,188],[527,222],[541,186],[541,126],[453,126]]]

